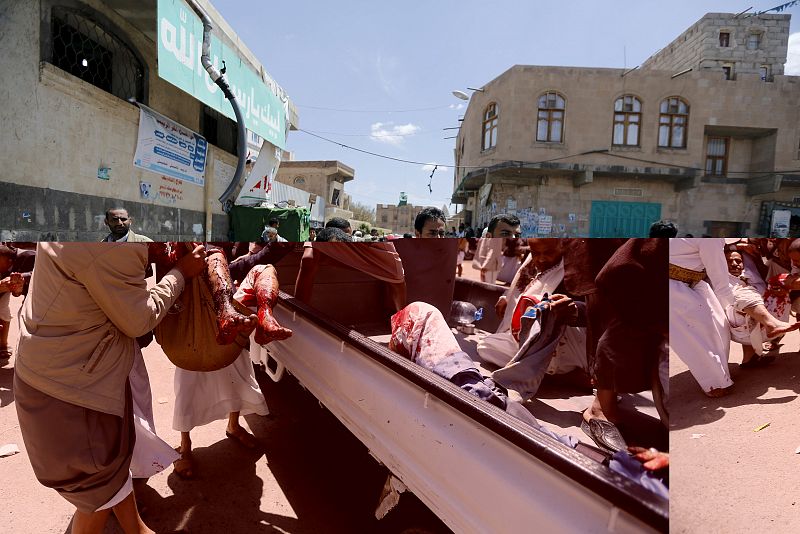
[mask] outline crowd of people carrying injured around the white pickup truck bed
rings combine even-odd
[[[416,237],[446,235],[444,214],[434,210],[417,216]],[[103,244],[39,243],[38,252],[0,246],[0,358],[13,352],[10,295],[27,293],[14,376],[20,430],[38,480],[76,507],[76,534],[101,532],[111,513],[126,532],[149,532],[132,479],[170,464],[179,477],[193,478],[198,465],[191,432],[199,426],[226,420],[227,438],[257,447],[240,424],[243,415],[267,413],[250,351],[293,335],[272,315],[278,294],[273,266],[296,245],[275,239],[276,232],[265,230],[255,243],[154,243],[131,230],[122,208],[108,210],[106,224]],[[478,345],[479,357],[497,367],[487,376],[439,309],[407,301],[394,245],[331,243],[351,241],[351,235],[347,221],[333,219],[305,243],[297,299],[311,304],[315,277],[326,263],[366,273],[387,288],[391,350],[571,447],[578,440],[541,426],[526,402],[548,375],[593,386],[594,402],[580,422],[587,436],[613,455],[612,466],[636,458],[646,470],[663,470],[667,457],[651,444],[629,449],[629,423],[617,400],[621,393],[652,390],[666,424],[667,283],[654,274],[666,264],[666,241],[523,241],[519,219],[493,218],[475,261],[484,281],[501,276],[509,286],[496,305],[499,328]],[[459,262],[465,252],[459,244]],[[800,249],[786,251],[795,252],[800,256]],[[155,280],[148,286],[150,276]],[[650,298],[636,298],[645,292]],[[782,328],[774,322],[767,333]],[[173,429],[181,441],[174,448],[155,432],[142,357],[152,342],[177,365]],[[58,443],[49,438],[54,429]]]

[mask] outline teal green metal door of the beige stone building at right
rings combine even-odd
[[[593,200],[589,237],[647,237],[661,218],[661,204]]]

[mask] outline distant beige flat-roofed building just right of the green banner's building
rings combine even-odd
[[[325,208],[325,221],[333,217],[351,220],[350,196],[344,184],[355,178],[355,170],[340,161],[284,161],[275,180],[316,195]],[[322,226],[325,221],[312,221]]]

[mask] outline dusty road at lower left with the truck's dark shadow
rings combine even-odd
[[[21,299],[14,302],[19,306]],[[16,329],[11,336],[17,338]],[[179,433],[171,429],[174,366],[156,343],[144,356],[156,428],[177,445]],[[0,458],[2,532],[68,532],[73,508],[36,481],[25,454],[11,392],[13,363],[12,358],[0,368],[0,445],[16,443],[22,453]],[[170,467],[137,485],[142,516],[151,528],[198,534],[391,532],[408,525],[446,530],[410,495],[377,524],[372,514],[384,469],[294,379],[275,384],[262,374],[260,382],[271,413],[248,416],[246,424],[263,442],[263,451],[247,451],[225,439],[224,421],[193,431],[196,480],[183,481]],[[120,530],[112,525],[106,532]]]

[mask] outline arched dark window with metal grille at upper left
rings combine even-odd
[[[133,51],[86,14],[53,7],[48,63],[103,91],[144,102],[145,69]]]

